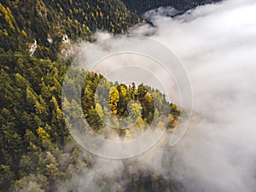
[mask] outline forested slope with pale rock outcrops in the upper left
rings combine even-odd
[[[55,60],[72,52],[70,41],[93,41],[96,30],[124,33],[141,20],[119,0],[7,0],[0,3],[0,48]]]

